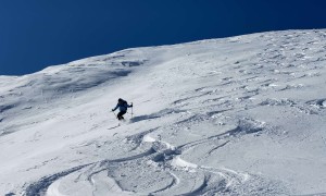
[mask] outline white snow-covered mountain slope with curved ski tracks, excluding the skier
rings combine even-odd
[[[324,195],[325,82],[326,30],[0,76],[0,195]]]

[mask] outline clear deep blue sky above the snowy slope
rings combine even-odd
[[[0,75],[142,46],[326,28],[325,0],[1,0]]]

